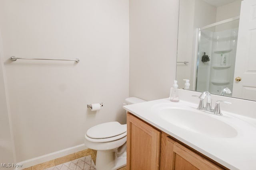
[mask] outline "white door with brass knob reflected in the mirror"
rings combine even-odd
[[[241,4],[232,96],[256,100],[256,0]]]

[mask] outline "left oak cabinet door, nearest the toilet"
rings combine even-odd
[[[127,114],[128,170],[158,170],[161,132]]]

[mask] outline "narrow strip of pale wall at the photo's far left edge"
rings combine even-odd
[[[0,31],[0,164],[14,163],[15,154],[13,146],[12,125],[8,112],[8,100],[6,96],[6,84],[2,62],[2,41]],[[4,169],[0,166],[0,169]]]

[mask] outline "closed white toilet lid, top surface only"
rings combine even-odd
[[[102,123],[91,127],[86,135],[93,139],[109,138],[126,132],[126,125],[121,125],[117,121]]]

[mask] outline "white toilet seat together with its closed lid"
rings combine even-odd
[[[117,121],[102,123],[88,129],[85,138],[95,143],[115,141],[126,136],[126,129],[126,124]]]

